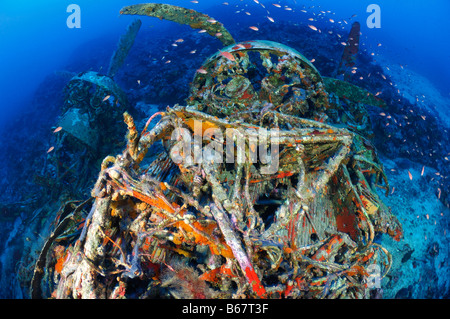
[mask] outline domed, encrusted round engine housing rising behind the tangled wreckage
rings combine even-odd
[[[306,118],[328,106],[322,77],[299,52],[272,41],[225,47],[197,70],[190,105],[222,116],[276,109]]]

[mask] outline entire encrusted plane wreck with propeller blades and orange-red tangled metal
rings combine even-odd
[[[373,270],[381,280],[392,263],[375,236],[402,238],[377,195],[389,183],[365,108],[384,102],[321,76],[288,46],[235,42],[194,10],[140,4],[121,14],[204,29],[224,48],[199,67],[186,105],[155,113],[141,132],[113,80],[139,20],[108,75],[69,82],[61,150],[98,156],[122,116],[126,146],[104,158],[90,198],[62,205],[30,296],[371,298]]]

